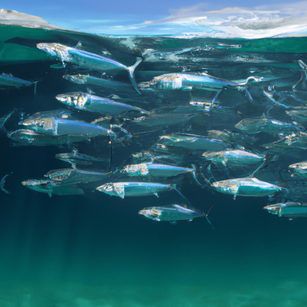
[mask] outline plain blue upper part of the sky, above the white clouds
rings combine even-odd
[[[268,4],[267,0],[248,2],[246,0],[2,0],[0,8],[17,10],[37,15],[47,21],[49,18],[113,19],[120,15],[134,14],[138,18],[158,19],[171,15],[178,9],[190,8],[203,3],[203,10],[220,10],[225,7],[255,7]],[[289,3],[285,0],[270,0],[270,5]],[[116,18],[117,19],[117,18]]]

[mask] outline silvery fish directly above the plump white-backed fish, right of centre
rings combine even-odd
[[[263,154],[250,153],[245,150],[226,150],[203,153],[207,160],[211,160],[216,165],[224,165],[226,168],[237,168],[251,166],[262,162],[265,159]]]

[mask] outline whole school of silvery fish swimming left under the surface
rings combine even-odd
[[[54,97],[61,108],[20,111],[19,129],[6,128],[13,112],[1,114],[0,128],[12,146],[65,148],[56,158],[70,166],[38,179],[24,174],[22,185],[49,196],[154,195],[154,205],[138,213],[172,223],[208,220],[213,205],[204,203],[205,212],[199,210],[182,194],[182,185],[208,189],[216,197],[268,197],[264,209],[271,214],[307,217],[306,59],[290,54],[277,63],[255,53],[226,67],[214,48],[158,44],[156,39],[157,49],[155,44],[142,49],[135,43],[123,49],[127,58],[121,60],[114,47],[101,46],[96,54],[82,41],[37,42],[50,56],[49,70],[69,91]],[[226,53],[234,48],[222,47]],[[239,53],[240,46],[235,48]],[[0,74],[1,90],[32,85],[35,95],[39,81]],[[99,138],[104,141],[93,142]],[[84,144],[101,146],[97,153],[105,154],[86,152]],[[1,181],[6,193],[8,175]],[[165,204],[165,193],[173,193],[172,202]]]

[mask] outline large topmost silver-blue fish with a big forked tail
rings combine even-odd
[[[119,71],[127,70],[129,72],[129,77],[132,85],[136,91],[140,93],[138,85],[134,78],[134,69],[142,62],[142,58],[137,58],[137,61],[132,66],[126,66],[115,60],[111,60],[104,56],[99,56],[98,54],[87,52],[81,49],[61,45],[58,43],[38,43],[37,48],[41,49],[51,56],[55,57],[57,60],[72,63],[80,68],[95,70],[95,71]]]

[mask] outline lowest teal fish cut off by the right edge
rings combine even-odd
[[[307,204],[300,204],[297,202],[286,202],[268,205],[263,209],[266,209],[272,214],[278,214],[278,216],[307,217]]]

